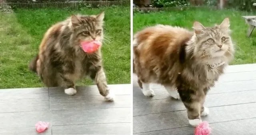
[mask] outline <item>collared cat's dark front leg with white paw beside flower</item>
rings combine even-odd
[[[204,99],[204,92],[200,90],[192,90],[189,88],[178,88],[180,98],[186,107],[188,113],[188,122],[192,126],[197,126],[202,122],[201,105]]]

